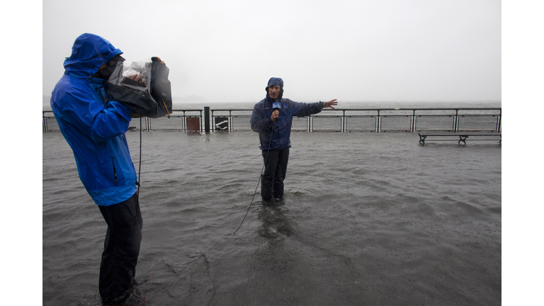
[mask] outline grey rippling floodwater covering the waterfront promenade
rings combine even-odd
[[[139,169],[140,132],[127,133]],[[254,132],[143,132],[147,305],[500,305],[501,145],[293,132],[260,202]],[[42,134],[43,305],[99,305],[106,222],[60,132]]]

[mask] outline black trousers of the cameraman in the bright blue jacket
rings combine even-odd
[[[142,241],[142,214],[137,193],[121,203],[98,208],[108,224],[98,290],[104,304],[113,304],[125,298],[135,281]]]

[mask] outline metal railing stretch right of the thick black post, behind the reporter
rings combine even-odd
[[[213,130],[251,130],[249,109],[216,109]],[[501,130],[502,108],[344,108],[294,117],[291,130],[336,132],[421,132]]]

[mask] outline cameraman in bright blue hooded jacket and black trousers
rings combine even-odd
[[[132,111],[108,101],[103,89],[122,53],[98,35],[80,35],[51,97],[79,178],[108,225],[99,278],[104,305],[122,305],[130,297],[142,240],[137,176],[125,137]]]

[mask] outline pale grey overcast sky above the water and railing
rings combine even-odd
[[[43,94],[82,33],[161,57],[172,95],[208,102],[500,101],[501,1],[50,1]],[[174,100],[176,103],[176,100]]]

